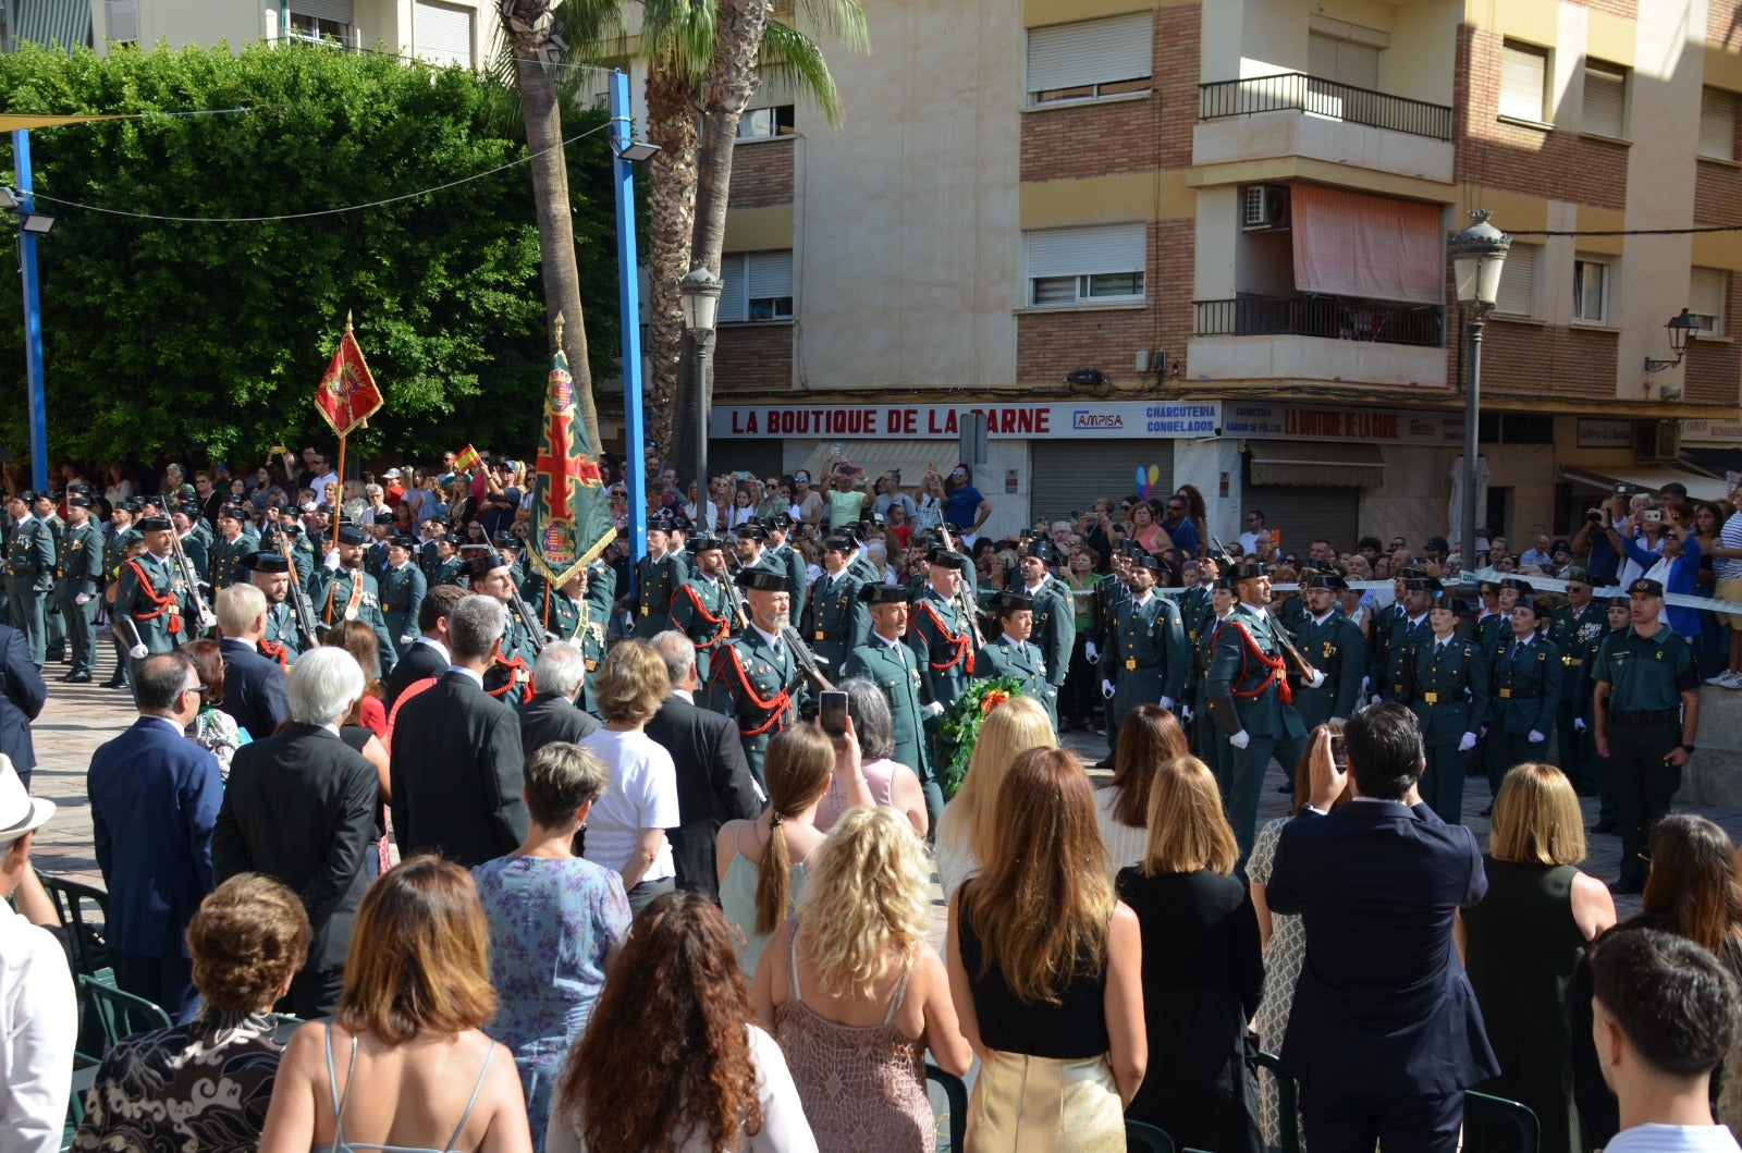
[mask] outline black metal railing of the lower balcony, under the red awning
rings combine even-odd
[[[1198,336],[1326,336],[1380,345],[1446,345],[1446,310],[1352,296],[1200,300]]]

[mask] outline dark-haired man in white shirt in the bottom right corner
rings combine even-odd
[[[1716,956],[1655,928],[1604,935],[1590,954],[1590,1038],[1620,1104],[1608,1153],[1735,1153],[1712,1122],[1711,1078],[1737,1035],[1737,986]]]

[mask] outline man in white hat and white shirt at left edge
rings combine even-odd
[[[0,756],[0,1134],[21,1153],[61,1148],[78,1036],[61,942],[3,900],[30,873],[30,845],[52,815],[54,803],[24,792]]]

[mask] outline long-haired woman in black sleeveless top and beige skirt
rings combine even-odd
[[[946,967],[981,1059],[967,1148],[1124,1150],[1148,1062],[1138,916],[1113,897],[1094,789],[1030,749],[996,791],[986,867],[949,899]]]

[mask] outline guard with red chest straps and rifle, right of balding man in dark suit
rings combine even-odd
[[[744,759],[763,782],[763,756],[773,735],[798,721],[805,674],[782,630],[791,625],[791,589],[786,573],[746,568],[737,576],[749,604],[751,627],[732,637],[714,664],[714,679],[732,704],[744,742]]]

